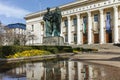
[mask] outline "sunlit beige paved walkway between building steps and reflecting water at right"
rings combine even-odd
[[[100,51],[98,53],[78,53],[71,59],[120,67],[120,50]]]

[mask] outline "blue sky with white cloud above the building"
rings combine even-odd
[[[4,25],[25,23],[24,17],[27,14],[73,1],[75,0],[0,0],[0,21]]]

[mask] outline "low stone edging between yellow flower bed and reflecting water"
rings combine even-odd
[[[39,60],[48,60],[48,59],[54,59],[54,58],[69,58],[73,54],[74,53],[64,53],[64,54],[52,54],[52,55],[44,55],[44,56],[32,56],[32,57],[22,57],[22,58],[0,59],[0,63],[39,61]]]

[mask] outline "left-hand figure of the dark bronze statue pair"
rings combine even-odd
[[[47,13],[44,15],[43,20],[45,21],[45,27],[46,27],[46,37],[52,36],[52,12],[50,11],[50,8],[47,8]]]

